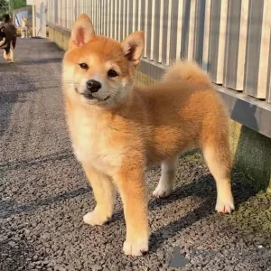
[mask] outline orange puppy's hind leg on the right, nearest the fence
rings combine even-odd
[[[208,140],[202,151],[217,185],[216,210],[222,213],[230,213],[231,210],[234,210],[230,185],[231,155],[227,136],[219,134]]]

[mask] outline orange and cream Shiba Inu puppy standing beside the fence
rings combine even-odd
[[[135,87],[142,32],[117,42],[95,34],[89,16],[74,23],[63,59],[63,96],[70,137],[97,205],[84,216],[102,225],[112,216],[116,187],[126,219],[126,255],[148,250],[145,169],[162,164],[155,197],[173,191],[176,162],[200,147],[217,185],[216,210],[234,210],[230,186],[229,119],[210,79],[180,61],[159,83]]]

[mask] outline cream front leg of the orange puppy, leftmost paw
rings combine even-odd
[[[84,222],[92,226],[102,225],[112,216],[116,189],[112,179],[104,173],[89,168],[85,169],[85,172],[97,204],[94,210],[84,216]]]

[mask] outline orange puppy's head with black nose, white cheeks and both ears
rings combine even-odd
[[[63,60],[66,95],[85,104],[120,106],[133,85],[144,43],[142,32],[130,34],[123,42],[96,36],[89,16],[80,15]]]

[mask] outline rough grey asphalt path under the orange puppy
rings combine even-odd
[[[14,64],[1,52],[0,270],[174,270],[171,264],[181,270],[271,270],[271,238],[262,229],[271,219],[270,198],[255,196],[233,172],[238,210],[216,214],[214,182],[198,154],[180,159],[167,199],[151,196],[160,169],[147,173],[152,235],[144,257],[122,253],[119,198],[107,225],[83,223],[95,201],[70,147],[62,55],[42,39],[19,40]]]

